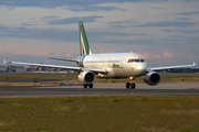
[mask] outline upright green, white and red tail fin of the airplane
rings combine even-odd
[[[84,30],[83,22],[78,22],[78,31],[80,31],[80,52],[81,52],[81,56],[90,55],[91,51],[90,51],[90,45],[88,45],[88,42],[87,42],[87,37],[86,37],[86,33],[85,33],[85,30]]]

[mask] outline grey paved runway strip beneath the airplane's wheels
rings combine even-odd
[[[0,97],[43,95],[199,95],[199,82],[167,82],[155,87],[137,84],[136,89],[126,89],[125,84],[94,84],[93,89],[82,86],[0,87]]]

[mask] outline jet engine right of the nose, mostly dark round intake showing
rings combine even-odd
[[[144,76],[144,81],[150,86],[155,86],[159,84],[159,80],[160,80],[160,76],[156,72],[149,72]]]

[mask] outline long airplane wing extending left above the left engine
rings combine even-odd
[[[21,63],[21,62],[10,62],[10,61],[4,61],[4,63],[7,64],[17,64],[17,65],[28,65],[28,66],[35,66],[35,68],[39,68],[39,67],[50,67],[50,68],[59,68],[60,70],[61,69],[72,69],[72,70],[91,70],[95,74],[98,74],[98,73],[104,73],[106,74],[106,69],[98,69],[98,68],[84,68],[84,67],[74,67],[74,66],[59,66],[59,65],[48,65],[48,64],[32,64],[32,63]]]

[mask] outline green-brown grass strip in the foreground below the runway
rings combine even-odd
[[[0,98],[0,131],[197,132],[199,96]]]

